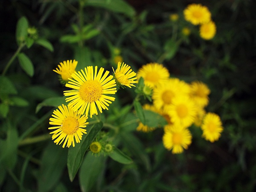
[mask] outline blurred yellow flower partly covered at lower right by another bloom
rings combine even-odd
[[[158,84],[153,90],[153,104],[165,113],[175,97],[189,96],[190,87],[185,81],[170,78]]]

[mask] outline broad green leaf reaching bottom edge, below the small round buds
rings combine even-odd
[[[106,157],[96,156],[88,152],[79,170],[79,184],[82,192],[92,191],[96,180],[105,167]]]

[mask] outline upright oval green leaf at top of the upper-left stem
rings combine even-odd
[[[16,42],[20,45],[28,35],[29,22],[26,17],[21,17],[16,25]]]

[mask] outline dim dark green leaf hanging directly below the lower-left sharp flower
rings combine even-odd
[[[38,192],[48,192],[57,185],[66,167],[67,148],[62,148],[51,141],[41,158],[38,174]]]

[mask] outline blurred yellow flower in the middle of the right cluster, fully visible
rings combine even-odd
[[[177,96],[172,100],[168,113],[174,124],[189,127],[195,120],[196,106],[189,97]]]

